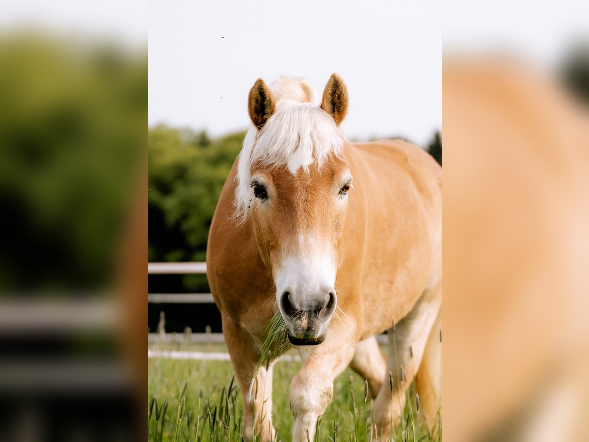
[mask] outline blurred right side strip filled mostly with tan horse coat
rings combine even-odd
[[[587,440],[589,5],[442,11],[444,438]]]

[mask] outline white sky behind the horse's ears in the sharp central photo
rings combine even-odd
[[[249,127],[257,78],[337,72],[350,103],[348,137],[404,136],[426,146],[441,128],[437,1],[149,2],[148,123]]]

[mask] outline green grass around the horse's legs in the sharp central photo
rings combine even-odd
[[[226,351],[223,344],[176,344],[157,348]],[[300,361],[279,361],[274,365],[272,415],[278,440],[289,441],[291,437],[293,417],[289,408],[289,387],[301,365]],[[395,441],[431,441],[431,435],[419,425],[413,388],[409,389],[408,397],[410,400]],[[183,401],[184,407],[181,407]],[[147,413],[149,441],[241,441],[241,391],[233,380],[229,361],[149,359]],[[364,401],[364,380],[346,368],[333,382],[333,401],[320,418],[315,440],[371,440],[371,419],[370,399],[366,404]],[[436,440],[440,436],[436,435]]]

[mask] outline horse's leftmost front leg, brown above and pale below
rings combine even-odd
[[[271,441],[276,434],[272,425],[272,363],[268,370],[266,365],[260,367],[256,375],[259,354],[252,337],[226,315],[222,319],[227,350],[243,396],[244,437],[253,440],[254,436],[260,435],[263,442]]]

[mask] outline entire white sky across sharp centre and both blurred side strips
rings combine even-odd
[[[504,48],[554,67],[571,43],[589,39],[589,2],[0,2],[0,29],[23,24],[137,48],[149,29],[150,125],[213,135],[246,128],[258,77],[300,75],[320,94],[337,72],[350,94],[349,137],[405,136],[425,146],[442,122],[442,41],[445,53]]]

